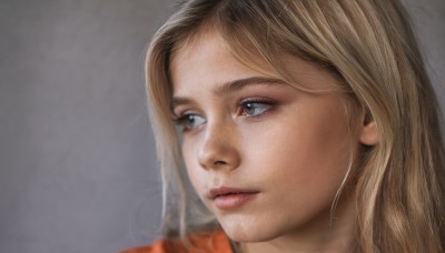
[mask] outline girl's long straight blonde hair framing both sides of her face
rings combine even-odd
[[[255,64],[248,55],[258,55],[284,78],[284,52],[330,70],[374,120],[379,142],[359,155],[355,175],[362,252],[445,250],[438,104],[396,0],[192,0],[160,28],[147,55],[147,93],[165,203],[179,194],[182,236],[191,224],[187,206],[196,201],[187,201],[192,193],[171,120],[169,63],[204,28],[218,31],[240,61]]]

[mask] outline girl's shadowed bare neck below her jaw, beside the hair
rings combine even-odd
[[[267,242],[241,243],[240,250],[243,253],[357,252],[356,216],[354,198],[343,199],[333,214],[327,211],[305,227]]]

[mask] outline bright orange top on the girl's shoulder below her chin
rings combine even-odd
[[[159,240],[149,246],[122,251],[121,253],[233,253],[229,239],[222,231],[190,236],[194,247],[180,241]]]

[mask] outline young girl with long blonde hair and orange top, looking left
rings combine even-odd
[[[128,252],[444,252],[438,105],[396,0],[187,1],[147,79],[181,240]]]

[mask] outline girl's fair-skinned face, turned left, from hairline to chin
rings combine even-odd
[[[284,58],[298,85],[338,83],[315,64]],[[358,142],[348,130],[346,99],[301,92],[261,69],[241,64],[217,33],[175,53],[172,110],[184,129],[188,175],[235,241],[334,230],[330,208]],[[344,215],[354,220],[345,203],[333,224]]]

